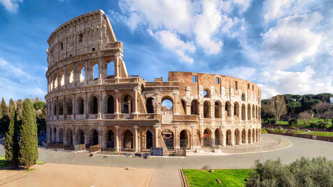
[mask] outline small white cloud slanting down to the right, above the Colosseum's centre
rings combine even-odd
[[[157,38],[157,40],[161,43],[163,47],[168,50],[174,51],[177,55],[179,55],[182,61],[193,64],[193,59],[185,55],[186,51],[195,51],[195,46],[193,45],[193,43],[185,43],[181,41],[176,33],[172,33],[170,31],[163,30],[153,33],[150,30],[149,32],[151,35]]]

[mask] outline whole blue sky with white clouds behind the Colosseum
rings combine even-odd
[[[62,23],[102,9],[130,75],[168,71],[253,81],[262,98],[333,92],[329,0],[0,0],[0,97],[47,92],[46,42]]]

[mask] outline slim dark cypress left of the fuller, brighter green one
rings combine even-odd
[[[12,100],[12,99],[11,99]],[[18,135],[18,126],[17,126],[17,117],[15,109],[10,110],[10,123],[8,127],[8,132],[6,133],[5,140],[5,157],[9,165],[18,167],[18,152],[19,144],[17,140]]]

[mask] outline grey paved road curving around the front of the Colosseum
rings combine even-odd
[[[187,158],[127,158],[127,157],[89,157],[88,153],[68,153],[39,150],[39,160],[54,163],[104,165],[116,167],[154,168],[152,187],[180,186],[180,178],[177,169],[181,166],[196,166],[197,168],[207,164],[208,166],[242,167],[252,166],[254,160],[281,158],[284,163],[290,163],[301,156],[318,157],[325,156],[333,160],[333,143],[282,136],[275,134],[262,134],[262,137],[281,137],[293,143],[292,146],[269,152],[234,154],[227,156],[187,156]],[[4,154],[4,153],[3,153]],[[1,155],[1,145],[0,145]]]

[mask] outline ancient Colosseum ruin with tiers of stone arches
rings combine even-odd
[[[47,42],[48,142],[142,152],[261,139],[257,85],[208,73],[169,72],[154,82],[129,75],[102,10],[67,21]]]

